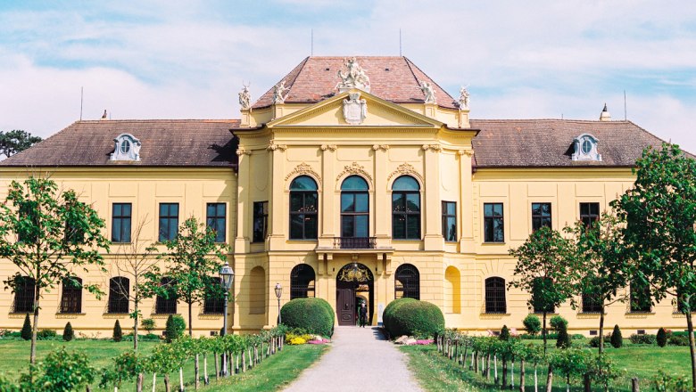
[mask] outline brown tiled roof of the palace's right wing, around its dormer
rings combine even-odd
[[[476,167],[634,167],[642,150],[663,142],[631,121],[472,119]],[[598,139],[601,161],[573,161],[573,140]]]

